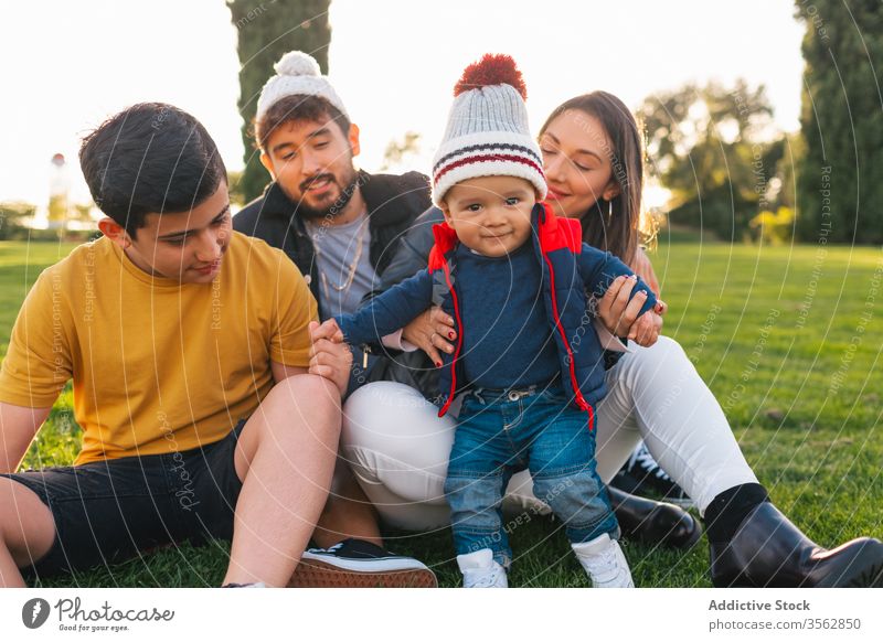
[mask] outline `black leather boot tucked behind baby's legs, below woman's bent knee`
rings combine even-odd
[[[699,521],[673,504],[630,495],[613,486],[607,486],[607,494],[623,534],[630,539],[651,546],[689,548],[702,535]]]

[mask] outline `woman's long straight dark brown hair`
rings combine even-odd
[[[581,218],[583,240],[630,264],[638,248],[643,182],[643,146],[638,124],[619,98],[607,92],[593,92],[556,107],[546,118],[540,135],[553,120],[568,111],[582,111],[600,121],[613,146],[605,151],[614,179],[619,183],[618,196],[610,202],[598,199]]]

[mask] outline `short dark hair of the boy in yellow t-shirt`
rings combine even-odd
[[[95,204],[135,238],[148,214],[188,212],[226,182],[212,137],[187,111],[141,103],[83,139],[79,167]]]

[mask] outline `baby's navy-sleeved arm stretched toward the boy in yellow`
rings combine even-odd
[[[387,334],[404,328],[433,303],[434,275],[421,270],[409,279],[374,297],[354,314],[336,317],[348,343],[381,343]]]

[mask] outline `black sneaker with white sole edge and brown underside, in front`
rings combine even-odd
[[[344,539],[330,548],[304,552],[289,587],[301,588],[435,588],[425,564],[395,555],[363,539]]]

